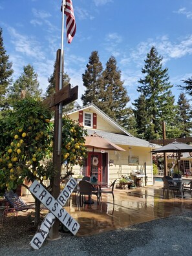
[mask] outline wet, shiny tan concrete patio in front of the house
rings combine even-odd
[[[150,220],[178,215],[192,211],[192,198],[169,197],[164,199],[162,182],[155,186],[138,187],[135,189],[114,189],[114,205],[112,195],[102,195],[101,204],[76,206],[75,195],[65,209],[80,223],[78,236],[89,236],[104,231],[123,228],[125,226],[148,222]]]

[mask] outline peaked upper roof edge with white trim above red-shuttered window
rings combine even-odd
[[[101,118],[106,120],[112,127],[114,127],[116,130],[120,132],[120,134],[126,134],[127,136],[133,136],[128,131],[126,131],[121,125],[116,123],[114,120],[112,120],[111,117],[109,117],[105,112],[101,111],[96,105],[93,103],[90,103],[84,107],[77,107],[76,109],[72,109],[72,111],[68,111],[67,114],[72,114],[79,111],[85,111],[86,109],[92,109],[92,111],[96,112],[96,114],[99,114]]]

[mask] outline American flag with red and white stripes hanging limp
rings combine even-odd
[[[76,34],[76,19],[74,17],[72,0],[66,0],[64,14],[66,15],[67,43],[71,43],[74,35]]]

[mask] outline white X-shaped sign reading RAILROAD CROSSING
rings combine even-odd
[[[35,197],[39,199],[39,201],[41,201],[50,211],[41,223],[36,235],[34,235],[33,239],[30,241],[32,248],[39,249],[41,247],[56,218],[58,218],[74,235],[76,235],[80,228],[80,224],[78,224],[76,220],[72,219],[69,213],[67,213],[63,208],[76,185],[76,180],[71,177],[65,188],[61,191],[59,197],[55,199],[50,195],[50,193],[48,193],[45,187],[37,182],[37,180],[32,183],[29,189],[30,192],[34,194]]]

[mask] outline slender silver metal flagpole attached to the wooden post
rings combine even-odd
[[[60,56],[60,70],[59,70],[59,90],[63,87],[63,63],[64,63],[64,10],[65,10],[66,1],[62,1],[62,21],[61,21],[61,56]],[[61,155],[61,140],[62,140],[62,103],[59,103],[59,120],[58,120],[58,155]]]

